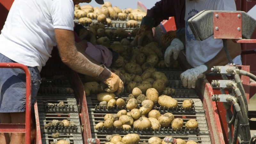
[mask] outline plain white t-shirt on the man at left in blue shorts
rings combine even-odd
[[[72,0],[15,0],[0,35],[0,53],[39,70],[56,46],[54,28],[73,30]]]

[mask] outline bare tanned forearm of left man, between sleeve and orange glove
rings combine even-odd
[[[55,29],[60,58],[68,67],[84,75],[97,77],[103,68],[92,63],[75,46],[74,33],[71,30]]]

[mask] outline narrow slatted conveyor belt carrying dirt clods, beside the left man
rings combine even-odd
[[[53,70],[58,69],[58,70]],[[64,68],[50,66],[43,68],[41,72],[42,82],[37,95],[39,123],[41,128],[42,143],[50,144],[55,140],[67,140],[70,144],[82,144],[81,126],[78,108],[72,90],[67,89],[70,84]],[[63,106],[58,106],[64,102]],[[51,103],[51,105],[48,105]],[[44,128],[52,120],[62,121],[67,119],[75,123],[75,126],[51,126]],[[59,132],[58,138],[52,137]]]

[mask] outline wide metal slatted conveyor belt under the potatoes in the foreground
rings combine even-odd
[[[165,73],[165,75],[170,79],[170,87],[176,89],[176,94],[172,96],[172,98],[176,99],[178,101],[178,107],[177,108],[165,108],[161,107],[159,105],[156,105],[153,109],[159,110],[161,114],[164,114],[166,112],[171,112],[174,114],[175,118],[182,118],[184,121],[184,125],[181,130],[174,131],[171,127],[168,128],[159,128],[159,130],[141,130],[138,131],[134,128],[125,131],[125,130],[119,130],[116,128],[106,129],[103,128],[102,130],[96,130],[95,125],[99,122],[104,122],[104,116],[106,114],[116,114],[118,109],[116,106],[112,109],[108,109],[106,107],[99,107],[99,101],[97,100],[95,95],[91,95],[86,98],[87,104],[88,104],[88,111],[89,111],[89,117],[90,117],[90,124],[91,124],[91,132],[92,137],[100,139],[100,143],[106,143],[106,136],[112,135],[112,134],[120,134],[121,136],[124,136],[128,133],[137,133],[140,135],[140,143],[142,143],[144,140],[147,142],[150,137],[157,136],[161,139],[163,139],[165,136],[172,136],[174,138],[181,138],[185,141],[188,140],[194,140],[197,143],[204,143],[204,144],[211,144],[209,130],[206,123],[205,113],[203,109],[202,101],[199,99],[199,97],[196,95],[196,92],[194,89],[187,89],[182,86],[181,80],[180,80],[180,73],[181,71],[167,71],[167,70],[160,70]],[[127,99],[128,94],[127,92],[124,92],[125,94],[119,95],[117,98],[123,98]],[[194,104],[189,110],[185,110],[182,108],[182,102],[186,99],[193,99]],[[126,109],[121,108],[121,109]],[[128,110],[129,111],[129,110]],[[198,122],[198,128],[196,130],[188,130],[185,128],[185,123],[191,119],[195,118]]]

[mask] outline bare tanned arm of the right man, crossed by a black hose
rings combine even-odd
[[[232,59],[241,54],[241,44],[234,43],[232,40],[227,40],[228,51]],[[205,64],[211,69],[213,66],[223,66],[228,63],[224,48],[210,61]],[[207,72],[210,72],[208,70]]]

